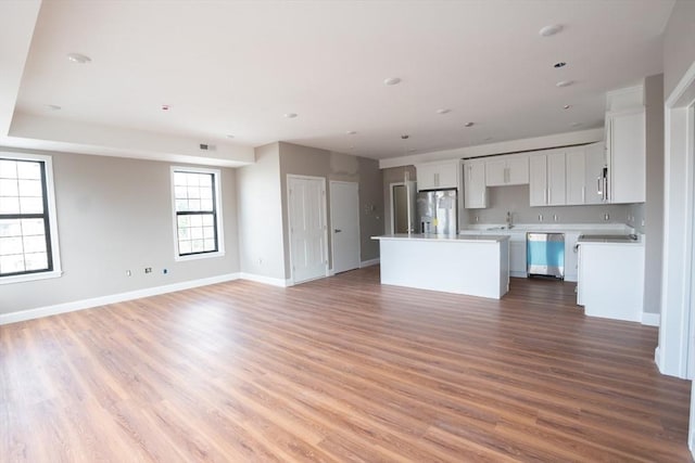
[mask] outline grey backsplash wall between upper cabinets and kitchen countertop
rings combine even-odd
[[[488,208],[466,209],[460,228],[476,223],[627,223],[642,231],[643,204],[589,206],[529,206],[529,185],[488,188]],[[542,216],[542,218],[540,218]]]

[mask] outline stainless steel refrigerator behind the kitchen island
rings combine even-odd
[[[458,233],[456,190],[421,191],[417,194],[420,233],[455,235]]]

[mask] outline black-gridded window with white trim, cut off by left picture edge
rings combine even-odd
[[[0,283],[60,273],[51,158],[0,153]]]

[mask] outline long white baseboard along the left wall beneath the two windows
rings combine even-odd
[[[199,280],[190,280],[180,283],[167,284],[164,286],[147,287],[143,290],[129,291],[127,293],[111,294],[109,296],[92,297],[89,299],[73,300],[71,303],[56,304],[53,306],[38,307],[36,309],[20,310],[10,313],[0,313],[0,325],[16,323],[25,320],[34,320],[42,317],[55,316],[59,313],[74,312],[77,310],[90,309],[93,307],[106,306],[109,304],[123,303],[125,300],[139,299],[142,297],[156,296],[160,294],[174,293],[176,291],[190,290],[192,287],[207,286],[216,283],[224,283],[239,279],[239,273],[227,273],[217,276],[210,276]]]

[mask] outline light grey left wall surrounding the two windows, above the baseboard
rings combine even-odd
[[[0,314],[239,271],[232,169],[220,169],[225,256],[175,261],[169,163],[41,154],[53,159],[64,273],[0,285]]]

